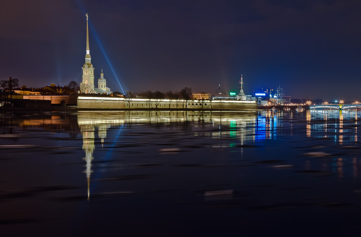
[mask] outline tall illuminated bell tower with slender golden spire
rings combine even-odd
[[[80,84],[81,93],[93,94],[94,91],[94,68],[91,64],[90,50],[89,50],[89,34],[88,34],[88,13],[87,16],[87,50],[85,55],[85,63],[82,67],[83,81]]]

